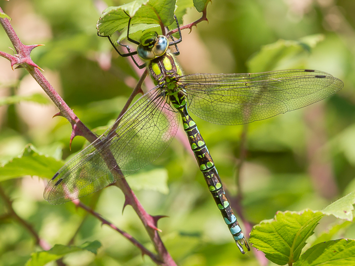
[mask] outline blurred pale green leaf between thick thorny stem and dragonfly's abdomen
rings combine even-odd
[[[127,179],[133,190],[154,190],[162,194],[168,194],[168,171],[166,169],[154,169],[148,172],[134,174]]]

